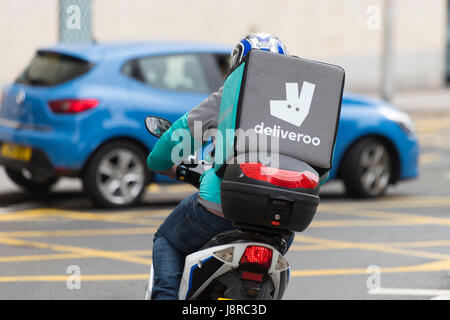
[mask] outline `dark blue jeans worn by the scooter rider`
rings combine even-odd
[[[184,261],[218,233],[234,229],[231,221],[206,210],[198,193],[184,199],[166,218],[153,239],[152,300],[176,300]],[[294,236],[287,242],[291,245]]]

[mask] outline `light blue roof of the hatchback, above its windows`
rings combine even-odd
[[[93,44],[56,44],[38,51],[55,52],[96,62],[104,58],[131,58],[141,55],[174,53],[230,53],[232,48],[222,44],[184,41],[105,42]]]

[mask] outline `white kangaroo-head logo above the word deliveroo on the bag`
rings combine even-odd
[[[308,116],[316,85],[303,81],[302,90],[298,94],[298,83],[286,83],[286,100],[270,100],[270,114],[300,127]]]

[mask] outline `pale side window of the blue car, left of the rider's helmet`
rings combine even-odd
[[[169,55],[137,59],[140,79],[167,90],[209,93],[210,88],[197,55]]]

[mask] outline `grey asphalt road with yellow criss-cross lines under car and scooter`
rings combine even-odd
[[[450,299],[450,114],[414,118],[420,178],[372,201],[326,185],[287,254],[286,299]],[[95,210],[78,181],[25,194],[0,170],[0,299],[142,299],[153,233],[191,192],[150,185],[139,207]]]

